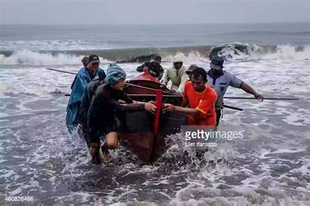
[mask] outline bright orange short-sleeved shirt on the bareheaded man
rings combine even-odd
[[[200,93],[194,90],[192,82],[186,82],[183,96],[188,99],[190,108],[201,111],[196,117],[189,116],[188,125],[216,125],[215,102],[217,94],[214,89],[206,85],[206,89]]]

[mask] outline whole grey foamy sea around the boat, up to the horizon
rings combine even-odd
[[[294,29],[292,29],[294,28]],[[113,205],[309,205],[310,24],[206,25],[2,25],[0,39],[0,183],[2,199],[33,196],[34,204]],[[94,31],[92,29],[91,31]],[[117,59],[159,53],[166,69],[175,60],[209,69],[214,45],[247,44],[253,52],[232,58],[224,70],[267,97],[225,99],[244,111],[224,109],[220,125],[235,125],[243,138],[221,140],[183,164],[184,136],[153,166],[122,146],[115,164],[94,166],[65,112],[72,74],[84,55],[100,56],[105,71]],[[119,64],[127,78],[140,63]],[[229,88],[226,96],[251,97]]]

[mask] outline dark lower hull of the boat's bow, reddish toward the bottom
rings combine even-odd
[[[126,113],[121,119],[121,143],[142,162],[152,164],[172,146],[167,135],[180,132],[188,117],[177,113],[160,113],[158,133],[154,132],[155,116],[147,111]]]

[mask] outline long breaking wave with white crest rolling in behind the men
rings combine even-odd
[[[81,59],[97,54],[102,63],[118,61],[120,63],[148,61],[160,54],[163,61],[197,60],[209,61],[210,53],[226,60],[248,59],[287,59],[308,60],[310,46],[292,45],[248,45],[241,43],[221,44],[218,46],[195,46],[178,48],[135,48],[110,50],[72,50],[72,51],[0,51],[0,65],[81,65]],[[148,58],[145,58],[148,57]]]

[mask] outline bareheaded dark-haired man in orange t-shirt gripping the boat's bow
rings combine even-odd
[[[165,104],[163,111],[176,111],[188,115],[188,125],[215,126],[217,95],[215,90],[206,85],[206,82],[206,70],[200,67],[195,68],[191,81],[185,84],[182,107]],[[189,108],[184,108],[188,105]]]

